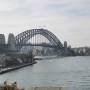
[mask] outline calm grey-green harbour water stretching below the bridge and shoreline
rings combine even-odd
[[[63,87],[90,90],[90,56],[44,59],[0,75],[0,83],[17,81],[20,87]]]

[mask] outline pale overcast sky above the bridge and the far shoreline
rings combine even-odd
[[[0,33],[45,28],[72,47],[90,46],[90,0],[0,0]]]

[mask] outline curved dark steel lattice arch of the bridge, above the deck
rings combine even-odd
[[[15,37],[16,45],[25,45],[28,40],[30,40],[37,34],[43,35],[45,38],[47,38],[50,41],[51,46],[56,46],[60,48],[63,47],[59,39],[52,32],[46,29],[31,29],[18,34]]]

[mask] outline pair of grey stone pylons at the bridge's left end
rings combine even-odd
[[[6,43],[5,35],[0,34],[0,53],[9,53],[15,51],[15,37],[12,33],[8,35],[8,42]]]

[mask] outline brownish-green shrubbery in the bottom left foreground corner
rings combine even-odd
[[[8,84],[6,81],[0,85],[0,90],[24,90],[24,89],[20,89],[17,86],[17,82]]]

